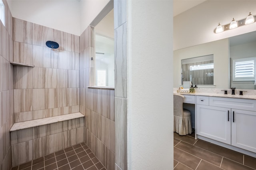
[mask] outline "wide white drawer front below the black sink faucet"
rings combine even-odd
[[[210,97],[209,105],[249,111],[256,110],[256,100],[251,99]]]

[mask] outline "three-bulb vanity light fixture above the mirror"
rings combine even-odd
[[[234,28],[240,27],[242,25],[248,25],[248,24],[254,23],[255,19],[256,19],[256,16],[253,16],[251,13],[247,16],[246,19],[243,19],[243,20],[236,21],[233,18],[233,20],[230,22],[230,24],[220,25],[220,23],[219,23],[219,25],[215,29],[215,33],[221,33],[223,31],[226,31],[229,29],[234,29]]]

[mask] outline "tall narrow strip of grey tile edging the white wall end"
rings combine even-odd
[[[115,170],[127,170],[127,20],[126,3],[114,0],[115,30]]]

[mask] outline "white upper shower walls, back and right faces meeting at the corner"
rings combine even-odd
[[[7,0],[13,17],[74,35],[81,35],[109,1]]]

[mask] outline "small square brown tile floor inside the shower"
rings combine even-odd
[[[106,170],[85,143],[15,166],[12,170]]]

